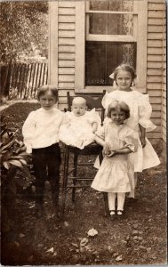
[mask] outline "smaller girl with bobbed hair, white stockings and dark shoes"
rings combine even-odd
[[[107,116],[108,120],[95,137],[95,141],[103,146],[105,157],[92,188],[108,192],[109,213],[114,218],[116,214],[123,214],[125,193],[134,189],[133,161],[128,154],[135,150],[137,135],[124,123],[130,117],[130,109],[124,101],[111,102]]]

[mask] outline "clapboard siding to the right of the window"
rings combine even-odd
[[[148,138],[161,138],[163,132],[163,37],[164,1],[148,0],[147,93],[153,109],[151,119],[157,125]]]

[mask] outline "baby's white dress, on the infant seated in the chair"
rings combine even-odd
[[[100,126],[100,116],[92,109],[85,111],[84,115],[76,117],[73,112],[66,112],[66,124],[60,126],[60,141],[67,145],[83,150],[85,146],[94,142],[92,124]]]

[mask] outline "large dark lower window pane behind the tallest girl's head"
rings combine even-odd
[[[122,63],[136,69],[136,43],[86,42],[85,85],[112,85],[109,75]]]

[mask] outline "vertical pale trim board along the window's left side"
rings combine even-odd
[[[75,88],[85,84],[85,1],[76,1],[76,75]]]

